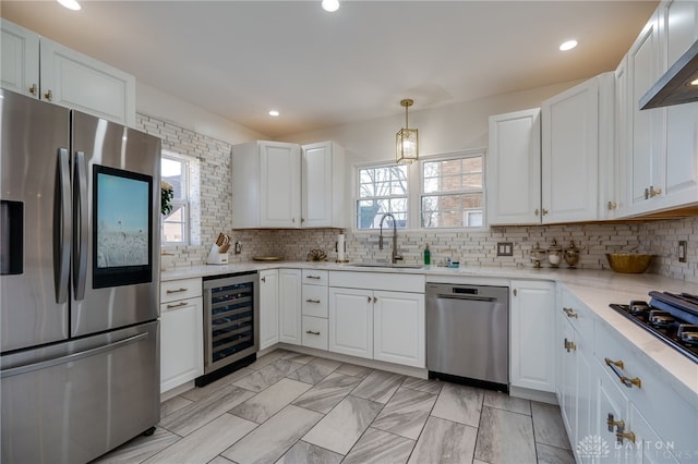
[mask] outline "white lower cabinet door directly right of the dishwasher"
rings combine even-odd
[[[541,281],[513,281],[509,325],[512,386],[554,392],[553,284]]]

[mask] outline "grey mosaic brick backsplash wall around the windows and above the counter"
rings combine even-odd
[[[320,248],[336,258],[338,230],[236,230],[232,228],[232,187],[230,184],[230,145],[176,124],[137,114],[137,126],[163,138],[163,147],[200,160],[201,224],[197,241],[190,246],[168,247],[163,257],[165,268],[188,267],[205,262],[218,232],[227,232],[233,243],[242,244],[240,255],[229,254],[232,262],[253,256],[281,256],[287,260],[304,260],[311,249]],[[392,230],[385,235],[390,236]],[[570,241],[582,248],[578,268],[607,269],[605,253],[630,249],[655,254],[649,272],[698,282],[698,217],[642,223],[597,223],[540,227],[505,227],[479,231],[437,232],[398,231],[398,247],[407,262],[421,262],[424,245],[432,251],[432,264],[447,257],[460,266],[531,266],[530,251],[540,244],[563,246]],[[688,242],[687,262],[676,257],[679,240]],[[513,242],[514,256],[497,257],[496,243]],[[378,232],[347,231],[347,258],[350,260],[387,260],[390,240],[378,249]],[[565,266],[563,261],[562,266]]]

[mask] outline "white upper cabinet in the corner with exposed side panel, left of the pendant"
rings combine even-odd
[[[300,147],[250,142],[232,147],[232,227],[300,227]]]

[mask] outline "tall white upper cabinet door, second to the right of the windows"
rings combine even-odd
[[[541,112],[543,223],[598,219],[599,81],[545,100]]]

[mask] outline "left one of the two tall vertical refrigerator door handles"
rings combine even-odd
[[[68,149],[58,149],[58,181],[60,183],[60,216],[57,218],[59,227],[53,236],[53,253],[58,259],[53,260],[53,283],[56,285],[56,303],[68,301],[68,285],[70,279],[70,231],[72,223],[70,205],[70,155]]]

